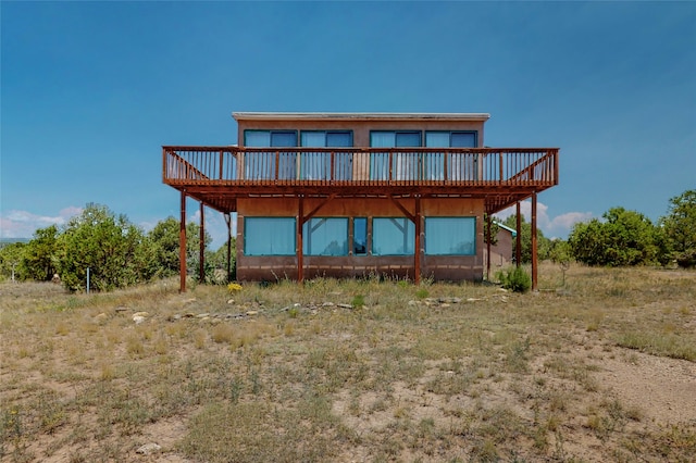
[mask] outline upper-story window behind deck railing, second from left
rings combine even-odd
[[[300,135],[302,147],[313,148],[344,148],[352,147],[352,133],[348,130],[302,132]],[[352,178],[352,153],[334,154],[334,175],[336,180],[349,180]],[[300,178],[308,180],[331,179],[331,153],[306,152],[302,153],[300,165]]]

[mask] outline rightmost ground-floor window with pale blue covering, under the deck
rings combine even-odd
[[[425,217],[425,254],[475,255],[475,217]]]

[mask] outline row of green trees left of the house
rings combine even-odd
[[[199,275],[200,228],[186,224],[187,273]],[[217,251],[208,250],[212,241],[204,234],[204,271],[208,281],[226,277],[227,245]],[[234,240],[233,240],[234,246]],[[234,265],[234,250],[232,252]],[[76,291],[86,288],[89,268],[90,288],[111,290],[146,283],[153,278],[178,275],[179,223],[174,217],[160,221],[145,233],[116,215],[107,207],[87,204],[82,214],[65,226],[40,228],[28,242],[14,242],[0,249],[0,277],[14,272],[18,280],[51,280],[60,275],[65,288]]]

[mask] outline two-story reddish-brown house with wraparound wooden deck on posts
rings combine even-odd
[[[181,192],[182,243],[186,198],[200,203],[201,229],[204,207],[229,230],[237,214],[238,280],[483,279],[484,221],[531,198],[535,230],[536,196],[558,184],[557,148],[484,148],[488,114],[233,117],[238,145],[162,155],[163,182]]]

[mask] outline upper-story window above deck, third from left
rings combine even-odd
[[[421,146],[420,132],[370,133],[370,146],[374,148],[418,148]],[[391,155],[391,178],[389,178],[389,153],[372,153],[370,158],[370,178],[373,180],[407,180],[418,178],[419,153],[395,152]]]

